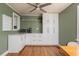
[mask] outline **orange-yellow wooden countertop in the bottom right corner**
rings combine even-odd
[[[60,46],[69,56],[79,56],[79,46]]]

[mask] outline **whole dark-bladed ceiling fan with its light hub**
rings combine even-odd
[[[51,3],[45,3],[45,4],[40,4],[40,3],[35,3],[35,4],[27,3],[27,4],[29,4],[29,5],[31,5],[31,6],[33,6],[33,7],[35,7],[35,8],[34,8],[33,10],[31,10],[30,12],[33,12],[33,11],[39,9],[39,10],[41,10],[41,11],[44,12],[44,13],[46,13],[47,11],[43,10],[42,8],[43,8],[43,7],[46,7],[46,6],[48,6],[48,5],[51,5]]]

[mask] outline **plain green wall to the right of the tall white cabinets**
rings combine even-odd
[[[73,3],[59,14],[60,44],[67,44],[70,41],[76,41],[77,5],[77,3]]]

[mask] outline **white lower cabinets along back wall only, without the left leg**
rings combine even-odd
[[[26,45],[57,45],[51,34],[26,34]]]

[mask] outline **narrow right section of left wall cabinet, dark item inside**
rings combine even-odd
[[[13,30],[17,31],[20,29],[20,16],[13,12]]]

